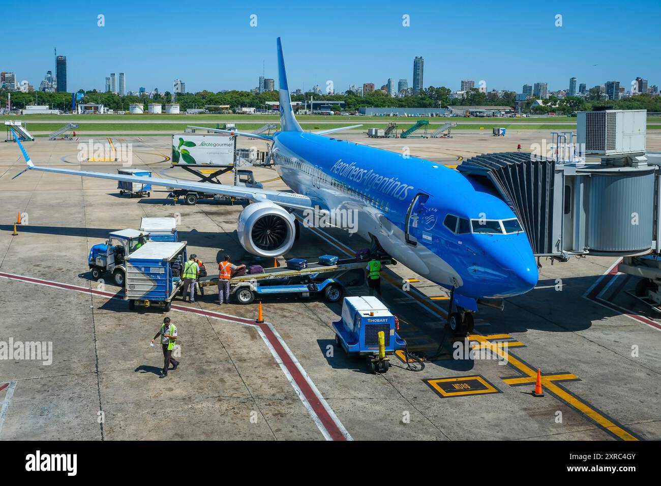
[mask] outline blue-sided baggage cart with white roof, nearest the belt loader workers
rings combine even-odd
[[[125,260],[124,300],[129,309],[140,305],[169,311],[182,285],[180,276],[173,275],[173,263],[186,261],[186,241],[149,241]]]

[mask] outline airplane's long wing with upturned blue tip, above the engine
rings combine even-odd
[[[12,130],[13,132],[13,130]],[[209,182],[194,182],[186,181],[183,179],[155,179],[153,177],[141,177],[134,175],[121,175],[110,174],[106,172],[91,172],[91,171],[74,171],[73,169],[59,169],[58,167],[41,167],[34,165],[30,160],[23,145],[20,143],[18,137],[13,132],[16,142],[19,144],[20,151],[25,157],[25,162],[29,170],[52,172],[56,174],[77,175],[82,177],[97,177],[98,179],[110,179],[112,181],[124,182],[137,182],[139,184],[152,184],[155,186],[175,187],[178,189],[195,190],[199,192],[207,192],[209,194],[221,194],[223,196],[231,196],[236,198],[245,198],[253,202],[266,202],[270,201],[278,206],[285,206],[286,208],[293,209],[311,209],[314,208],[312,200],[301,194],[293,192],[281,192],[278,190],[259,189],[243,186],[228,186],[225,184],[212,184]]]

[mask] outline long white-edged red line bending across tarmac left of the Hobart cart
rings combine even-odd
[[[95,290],[92,288],[63,284],[61,282],[52,282],[51,280],[42,280],[40,278],[32,278],[32,277],[5,273],[5,272],[0,272],[0,277],[5,277],[20,282],[28,282],[32,284],[61,288],[63,290],[74,290],[76,292],[83,292],[86,294],[95,294],[98,296],[104,296],[112,299],[122,299],[122,292],[118,292],[117,294],[112,294],[110,292],[103,292],[101,290]],[[347,440],[346,436],[342,434],[342,430],[340,430],[336,421],[333,419],[333,417],[331,417],[327,408],[324,406],[323,403],[321,403],[321,400],[319,399],[317,393],[315,393],[315,391],[312,389],[310,382],[307,380],[305,376],[303,376],[299,367],[296,366],[296,363],[293,360],[293,355],[284,348],[282,342],[275,335],[273,329],[270,327],[270,325],[268,325],[268,323],[257,323],[252,319],[245,319],[243,317],[235,317],[233,315],[222,314],[219,312],[196,309],[194,307],[186,307],[185,305],[175,304],[172,305],[172,308],[178,311],[190,312],[198,315],[208,315],[211,317],[225,319],[227,321],[258,326],[262,330],[262,333],[264,333],[264,336],[266,336],[266,339],[268,340],[270,346],[272,346],[272,348],[275,350],[276,354],[278,355],[278,358],[280,358],[280,360],[282,361],[282,364],[284,364],[284,366],[287,368],[295,384],[301,390],[301,393],[303,393],[303,396],[309,403],[310,407],[313,409],[313,411],[319,418],[319,421],[321,421],[323,426],[326,428],[332,440]],[[7,385],[4,385],[3,387],[5,386]]]

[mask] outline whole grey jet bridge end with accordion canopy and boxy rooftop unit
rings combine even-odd
[[[547,153],[478,155],[457,170],[512,208],[539,257],[646,255],[658,246],[661,208],[659,159],[645,156],[646,114],[580,115],[576,146],[554,134]]]

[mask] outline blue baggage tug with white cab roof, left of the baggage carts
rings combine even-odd
[[[125,260],[128,255],[136,251],[149,241],[149,233],[137,229],[122,229],[108,234],[106,243],[99,243],[89,251],[89,272],[94,280],[108,272],[112,274],[112,281],[123,286],[126,275]]]

